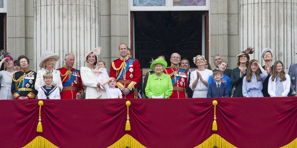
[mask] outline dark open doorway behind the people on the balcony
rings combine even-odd
[[[209,53],[207,12],[133,11],[133,47],[140,66],[149,68],[152,58],[160,55],[169,64],[170,55],[176,52],[196,67],[193,57],[200,54],[207,58]]]

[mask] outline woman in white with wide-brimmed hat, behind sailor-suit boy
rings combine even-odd
[[[53,74],[53,82],[52,85],[57,86],[61,92],[63,89],[61,77],[60,77],[60,71],[55,70],[56,62],[60,56],[55,55],[53,51],[45,51],[41,54],[41,61],[39,63],[39,67],[41,70],[37,71],[36,81],[35,81],[35,89],[39,90],[41,86],[45,85],[45,82],[43,81],[43,74],[46,72],[50,72]]]

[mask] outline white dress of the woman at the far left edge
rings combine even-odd
[[[8,72],[7,70],[0,71],[0,82],[1,82],[1,90],[0,90],[0,100],[6,99],[14,99],[11,94],[11,82],[12,82],[12,74],[14,72]]]

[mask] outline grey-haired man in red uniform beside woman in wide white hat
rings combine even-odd
[[[74,54],[67,53],[64,61],[65,65],[57,70],[60,71],[63,89],[61,99],[82,99],[84,87],[80,77],[80,70],[72,68],[74,64]]]

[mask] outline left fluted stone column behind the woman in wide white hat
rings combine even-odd
[[[85,54],[99,46],[99,6],[100,0],[34,0],[34,69],[45,50],[60,55],[55,68],[67,52],[75,55],[74,68],[86,66]]]

